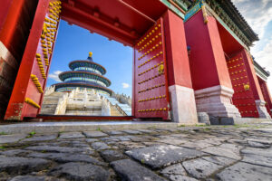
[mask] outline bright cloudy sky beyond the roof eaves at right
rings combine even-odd
[[[251,47],[255,60],[270,71],[268,87],[272,93],[272,0],[232,0],[251,28],[258,34],[259,41]]]

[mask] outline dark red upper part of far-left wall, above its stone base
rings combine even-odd
[[[0,25],[2,24],[0,41],[5,44],[5,47],[14,55],[15,59],[20,62],[33,23],[38,0],[13,0],[9,2],[5,0],[5,2],[9,5],[9,9],[8,12],[0,13],[1,16],[5,17],[5,23],[2,24],[0,22]]]

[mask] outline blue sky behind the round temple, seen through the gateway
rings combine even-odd
[[[94,62],[106,68],[104,76],[112,81],[109,88],[131,96],[132,48],[63,20],[53,51],[47,86],[59,82],[58,74],[70,70],[69,62],[85,60],[89,52],[93,53]]]

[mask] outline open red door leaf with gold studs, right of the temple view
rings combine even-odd
[[[134,115],[170,119],[162,18],[134,47]]]

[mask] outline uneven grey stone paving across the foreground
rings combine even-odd
[[[272,125],[0,135],[0,180],[272,180]]]

